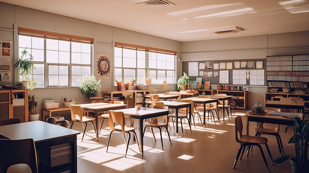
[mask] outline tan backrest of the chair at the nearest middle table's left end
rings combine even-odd
[[[115,111],[115,110],[110,110],[110,129],[111,130],[119,130],[126,132],[124,127],[125,127],[125,119],[124,119],[124,114],[121,111]],[[120,125],[119,127],[116,127],[117,125]]]

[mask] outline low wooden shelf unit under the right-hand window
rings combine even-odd
[[[127,104],[128,108],[134,107],[138,104],[145,102],[145,94],[152,94],[155,90],[126,90],[126,91],[102,91],[103,102],[113,103],[115,100],[119,100],[118,97],[125,97],[124,104]],[[140,96],[139,96],[140,95]]]

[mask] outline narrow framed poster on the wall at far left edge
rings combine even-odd
[[[12,41],[0,40],[0,47],[0,72],[12,72]]]

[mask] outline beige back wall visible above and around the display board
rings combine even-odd
[[[308,40],[309,31],[188,41],[182,42],[179,57],[182,59],[184,70],[188,69],[186,62],[192,61],[231,62],[231,60],[258,59],[265,61],[267,56],[309,54]],[[265,65],[263,64],[263,66]],[[216,85],[211,85],[211,88],[216,89]],[[267,87],[247,86],[249,88],[249,107],[257,102],[264,103],[264,93],[267,91]]]

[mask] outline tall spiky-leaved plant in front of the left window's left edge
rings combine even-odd
[[[31,73],[31,70],[36,69],[36,67],[33,64],[33,56],[27,51],[27,48],[21,52],[21,56],[15,63],[14,68],[19,68],[19,74],[22,76],[20,81],[25,87],[28,87],[27,82],[30,81],[28,75]],[[35,87],[36,85],[32,85],[32,88]]]

